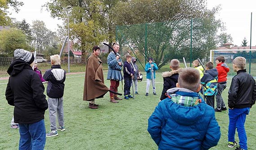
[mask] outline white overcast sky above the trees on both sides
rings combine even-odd
[[[57,24],[62,24],[61,20],[53,19],[50,13],[44,9],[41,12],[41,6],[49,0],[19,0],[24,3],[20,7],[19,13],[13,13],[11,17],[32,24],[34,20],[44,21],[46,27],[51,31],[57,31]],[[256,45],[256,0],[207,0],[207,7],[212,7],[221,4],[222,10],[217,15],[225,22],[227,33],[233,38],[233,44],[240,46],[243,38],[246,37],[250,44],[250,26],[251,26],[251,12],[252,12],[252,46]]]

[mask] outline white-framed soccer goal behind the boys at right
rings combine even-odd
[[[210,61],[215,62],[216,57],[225,57],[225,63],[232,71],[232,62],[235,57],[241,56],[246,58],[246,70],[256,77],[256,49],[212,49],[210,50]],[[234,72],[234,71],[233,71]],[[234,74],[235,75],[235,74]]]

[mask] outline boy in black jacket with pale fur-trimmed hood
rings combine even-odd
[[[179,72],[182,71],[180,68],[180,61],[177,59],[172,59],[170,62],[170,68],[172,71],[163,72],[163,91],[160,97],[160,101],[167,98],[165,93],[170,88],[176,88],[176,84],[178,82]]]

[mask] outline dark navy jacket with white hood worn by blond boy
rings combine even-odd
[[[53,65],[44,74],[45,81],[48,81],[46,93],[51,98],[61,98],[64,95],[66,71],[60,65]]]

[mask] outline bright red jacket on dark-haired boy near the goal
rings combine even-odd
[[[230,68],[224,62],[219,63],[216,66],[218,71],[218,83],[227,81],[228,72]]]

